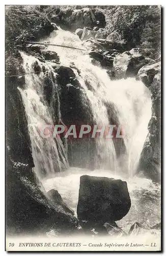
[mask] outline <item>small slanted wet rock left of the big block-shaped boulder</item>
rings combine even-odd
[[[46,196],[53,202],[57,203],[58,205],[61,205],[66,212],[74,215],[74,211],[65,204],[61,195],[58,193],[58,190],[51,189],[46,193]]]

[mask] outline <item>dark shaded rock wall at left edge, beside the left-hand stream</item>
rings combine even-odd
[[[18,69],[18,74],[23,72],[22,69]],[[24,76],[6,78],[6,144],[12,161],[33,167],[27,118],[21,94],[17,89],[23,89],[24,84]]]

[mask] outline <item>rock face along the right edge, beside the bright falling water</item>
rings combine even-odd
[[[151,91],[152,117],[149,121],[149,134],[144,143],[138,172],[156,182],[161,179],[161,74],[160,62],[144,66],[137,79],[142,80]]]

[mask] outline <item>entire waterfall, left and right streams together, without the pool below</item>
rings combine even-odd
[[[72,32],[53,31],[48,40],[50,44],[86,50],[82,41]],[[125,131],[123,139],[96,138],[94,160],[97,164],[95,168],[110,169],[115,173],[124,172],[129,176],[135,174],[148,134],[148,122],[151,118],[149,89],[141,81],[136,81],[134,78],[110,80],[106,70],[91,63],[91,58],[86,51],[56,46],[47,46],[46,50],[57,52],[61,65],[70,67],[74,62],[74,66],[80,71],[78,74],[77,70],[73,69],[82,91],[89,100],[88,104],[93,114],[94,123],[99,126],[119,124]],[[21,55],[25,73],[32,72],[32,64],[36,58],[24,53]],[[44,64],[40,61],[38,63],[41,70],[43,65],[46,66],[48,74],[52,73],[56,78],[56,73],[48,61]],[[61,139],[54,139],[51,136],[45,139],[40,136],[39,127],[45,124],[54,124],[53,105],[49,105],[44,98],[44,77],[43,72],[27,74],[25,75],[25,89],[19,89],[29,123],[33,158],[38,176],[45,173],[51,175],[68,168],[67,152]],[[89,86],[87,86],[87,82]],[[56,82],[53,84],[54,87],[57,86]],[[90,87],[93,90],[90,90]],[[84,99],[82,99],[82,103],[84,103]],[[60,112],[58,106],[57,108]],[[119,155],[117,151],[119,151]]]

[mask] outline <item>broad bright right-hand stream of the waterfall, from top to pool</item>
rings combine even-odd
[[[49,41],[50,44],[86,50],[78,36],[68,31],[53,32]],[[120,156],[118,161],[113,140],[97,139],[97,155],[100,155],[99,167],[117,172],[128,170],[130,176],[135,174],[148,134],[148,122],[151,118],[149,89],[134,78],[110,81],[106,70],[94,66],[89,55],[82,51],[56,46],[48,46],[48,50],[58,53],[62,65],[68,67],[71,62],[74,62],[74,65],[80,70],[80,76],[75,72],[76,78],[90,100],[95,122],[100,126],[107,126],[110,124],[108,115],[110,112],[112,121],[114,122],[115,117],[118,124],[124,128],[126,154]],[[91,85],[93,92],[87,88],[85,81]],[[109,108],[106,108],[106,105],[109,105]],[[119,166],[119,162],[123,162],[123,164]]]

